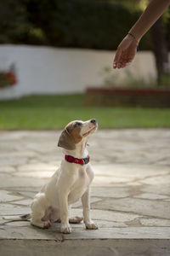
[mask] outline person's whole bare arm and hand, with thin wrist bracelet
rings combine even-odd
[[[160,18],[163,12],[170,4],[170,0],[151,0],[148,7],[144,10],[143,15],[130,29],[129,33],[123,38],[116,50],[116,56],[113,62],[113,68],[126,67],[133,61],[136,55],[136,49],[139,40],[144,36],[144,33],[150,29],[156,20]]]

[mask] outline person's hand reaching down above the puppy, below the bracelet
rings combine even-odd
[[[138,40],[127,34],[116,50],[113,68],[122,68],[129,65],[137,52],[138,44]]]

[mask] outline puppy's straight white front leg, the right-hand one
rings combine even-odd
[[[97,230],[98,226],[94,224],[94,221],[90,218],[90,191],[89,187],[82,195],[82,212],[84,218],[84,224],[88,230]]]

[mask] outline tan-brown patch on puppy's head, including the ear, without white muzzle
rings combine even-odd
[[[58,146],[61,148],[73,150],[76,148],[76,144],[82,141],[81,122],[73,121],[65,126],[65,130],[62,131],[59,137]]]

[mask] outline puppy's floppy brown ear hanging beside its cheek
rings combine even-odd
[[[65,128],[64,131],[61,132],[59,137],[58,147],[73,150],[76,148],[73,138],[71,137],[70,132]]]

